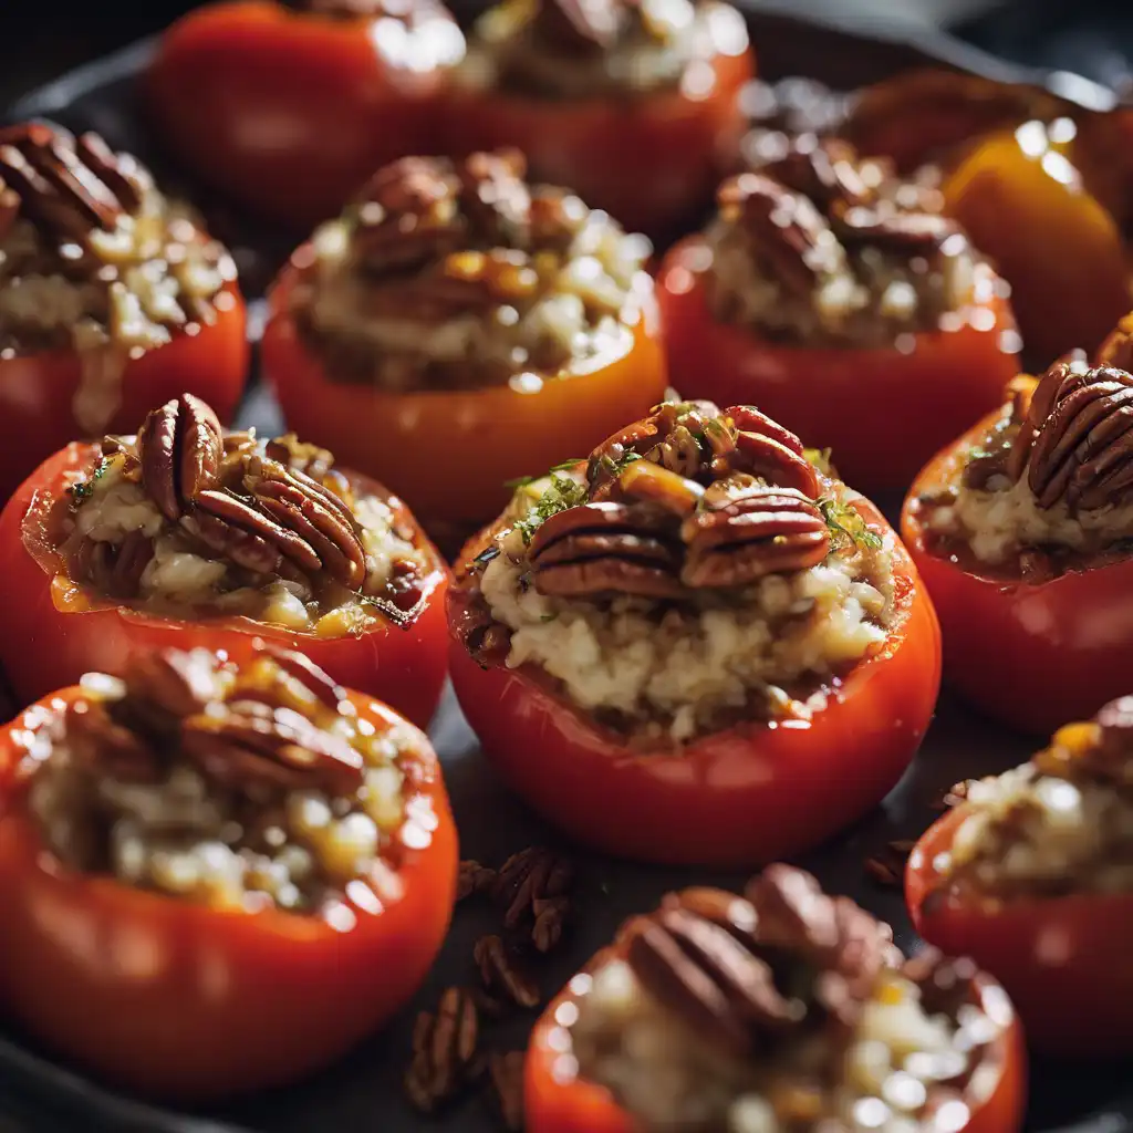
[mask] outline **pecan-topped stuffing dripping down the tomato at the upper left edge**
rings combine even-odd
[[[113,417],[126,361],[212,323],[235,278],[134,157],[95,134],[0,130],[0,358],[78,351],[84,432]]]

